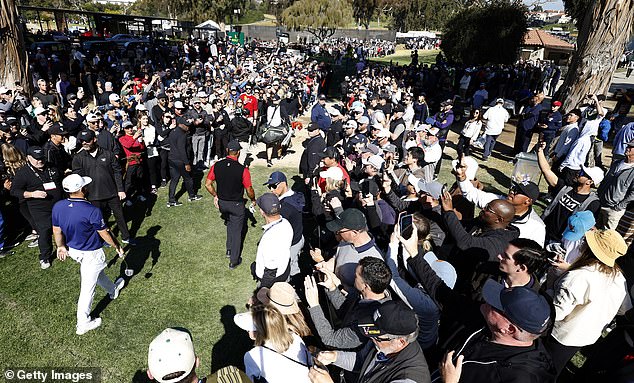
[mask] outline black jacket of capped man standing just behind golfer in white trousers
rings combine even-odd
[[[73,158],[73,173],[92,178],[86,186],[89,201],[114,198],[124,191],[121,165],[109,150],[97,148],[95,157],[85,150],[80,151]]]

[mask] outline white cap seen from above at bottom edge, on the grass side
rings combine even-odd
[[[174,328],[163,330],[154,338],[147,355],[148,370],[160,383],[173,383],[181,381],[196,365],[196,354],[191,336],[185,331]],[[182,374],[171,379],[165,376],[177,372]]]

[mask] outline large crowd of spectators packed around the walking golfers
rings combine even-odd
[[[228,151],[248,166],[262,127],[306,114],[299,188],[294,174],[271,169],[257,198],[266,225],[256,288],[235,317],[255,346],[244,373],[223,369],[219,381],[554,382],[593,345],[577,381],[620,381],[597,374],[619,373],[614,358],[631,352],[627,329],[602,334],[632,308],[632,92],[620,91],[613,110],[588,95],[563,111],[547,99],[559,81],[551,63],[366,61],[393,48],[327,42],[321,49],[355,59],[341,81],[319,62],[257,44],[188,41],[173,61],[153,49],[131,60],[38,53],[32,95],[26,84],[0,87],[0,257],[27,236],[41,268],[51,266],[51,210],[65,175],[92,178],[87,199],[134,245],[122,205],[169,183],[166,208],[180,206],[181,178],[195,203],[203,197],[192,172]],[[340,101],[328,102],[328,90]],[[531,180],[503,195],[478,180],[513,116],[513,151],[536,154],[548,195]],[[455,178],[444,185],[452,129],[459,156],[442,166]],[[283,151],[267,143],[267,165]],[[198,363],[191,335],[168,329],[150,345],[148,375],[195,382]]]

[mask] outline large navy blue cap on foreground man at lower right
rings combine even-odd
[[[550,305],[535,290],[526,286],[504,288],[502,284],[489,279],[484,284],[482,295],[486,303],[522,330],[541,334],[548,328]]]

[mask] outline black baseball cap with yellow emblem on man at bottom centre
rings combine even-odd
[[[387,301],[373,313],[372,318],[359,321],[359,329],[370,338],[381,335],[402,335],[414,333],[417,328],[416,313],[405,303]]]

